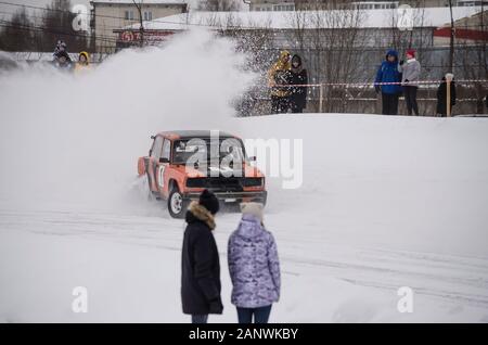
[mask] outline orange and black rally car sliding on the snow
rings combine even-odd
[[[151,137],[149,155],[138,161],[147,176],[150,194],[167,202],[171,217],[182,218],[191,200],[204,189],[221,203],[266,204],[265,176],[252,166],[242,140],[210,130],[164,131]]]

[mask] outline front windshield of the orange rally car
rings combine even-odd
[[[219,163],[223,158],[234,163],[244,162],[245,159],[242,142],[234,138],[219,140],[218,148],[214,150],[219,152]],[[189,161],[190,163],[210,162],[210,139],[195,138],[175,141],[172,163],[187,164]]]

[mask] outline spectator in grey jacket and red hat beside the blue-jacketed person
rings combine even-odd
[[[412,111],[415,115],[419,115],[419,105],[416,104],[416,90],[419,81],[421,65],[415,59],[415,51],[413,49],[407,50],[407,62],[400,62],[398,71],[401,73],[401,85],[404,90],[404,101],[407,103],[407,113],[412,115]],[[413,84],[412,84],[413,82]]]

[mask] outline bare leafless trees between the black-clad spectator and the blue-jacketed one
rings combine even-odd
[[[355,49],[364,40],[362,20],[363,11],[350,7],[334,11],[322,11],[318,7],[294,13],[290,22],[292,44],[304,54],[311,81],[336,84],[361,77],[362,56]],[[316,99],[317,92],[316,89]],[[344,111],[347,92],[344,87],[326,87],[322,92],[323,111]]]

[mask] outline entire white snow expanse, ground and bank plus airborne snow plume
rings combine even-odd
[[[303,139],[303,184],[268,179],[265,223],[283,279],[271,322],[488,322],[488,120],[230,118],[227,101],[252,79],[231,48],[193,33],[162,52],[123,53],[82,80],[0,76],[0,322],[189,321],[184,223],[136,180],[149,135],[175,128]],[[142,91],[112,91],[146,78],[151,61],[171,71],[155,72],[145,103],[133,101]],[[179,86],[193,102],[174,91],[184,68],[198,74]],[[236,321],[226,251],[237,221],[217,217],[224,311],[210,322]],[[87,314],[72,311],[75,286],[88,289]],[[414,292],[411,314],[397,310],[400,286]]]

